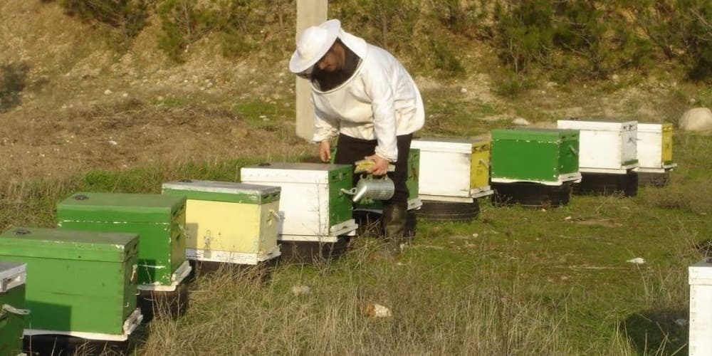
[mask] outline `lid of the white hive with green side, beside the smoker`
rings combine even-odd
[[[266,163],[242,167],[243,182],[319,183],[341,181],[352,176],[351,164]]]

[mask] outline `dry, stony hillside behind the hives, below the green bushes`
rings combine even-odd
[[[175,63],[157,48],[155,18],[130,48],[115,51],[100,26],[43,1],[3,1],[0,30],[0,68],[19,88],[14,104],[0,111],[3,179],[158,160],[311,153],[293,134],[293,76],[286,69],[292,45],[281,57],[255,52],[228,60],[208,37]],[[459,58],[465,75],[440,80],[414,73],[430,113],[424,135],[466,135],[439,131],[449,120],[444,99],[469,105],[471,127],[486,132],[515,117],[540,125],[567,116],[676,120],[697,93],[662,68],[661,78],[620,73],[603,83],[543,81],[500,97],[492,90],[498,63],[491,48],[468,44]]]

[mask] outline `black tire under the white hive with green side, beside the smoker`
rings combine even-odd
[[[350,236],[339,236],[336,242],[281,241],[280,261],[309,264],[323,259],[335,259],[346,253]]]

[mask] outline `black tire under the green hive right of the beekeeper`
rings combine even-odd
[[[551,186],[533,182],[491,184],[494,194],[491,200],[495,205],[521,205],[531,208],[555,208],[569,204],[571,183],[563,182]]]

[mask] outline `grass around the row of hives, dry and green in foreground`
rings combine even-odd
[[[708,137],[677,135],[668,187],[637,197],[572,197],[525,209],[481,201],[468,223],[418,221],[397,262],[358,238],[343,258],[277,263],[269,278],[218,271],[191,284],[190,308],[153,320],[135,355],[684,355],[686,268],[712,231]],[[6,189],[2,228],[53,226],[75,191],[158,192],[172,179],[235,181],[249,159],[92,171]],[[627,263],[642,257],[646,263]],[[306,286],[309,293],[294,293]],[[369,318],[370,303],[392,318]]]

